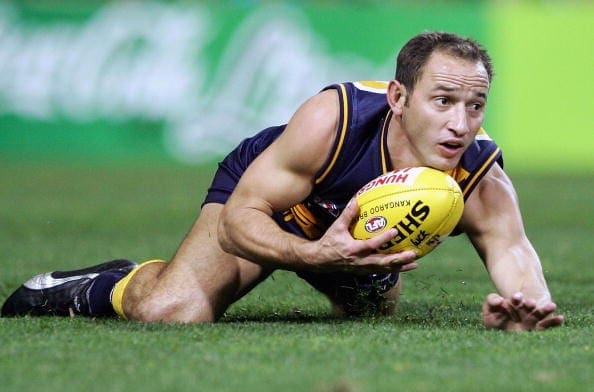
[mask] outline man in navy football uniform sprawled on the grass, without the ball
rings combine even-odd
[[[465,232],[497,288],[487,328],[538,330],[563,323],[527,239],[501,152],[481,128],[493,76],[475,41],[413,37],[395,79],[331,85],[283,126],[244,140],[220,164],[201,213],[170,262],[114,260],[41,274],[3,316],[118,314],[143,322],[212,322],[274,270],[297,273],[345,315],[390,314],[413,251],[376,252],[395,229],[355,240],[351,200],[390,170],[448,172],[465,195]]]

